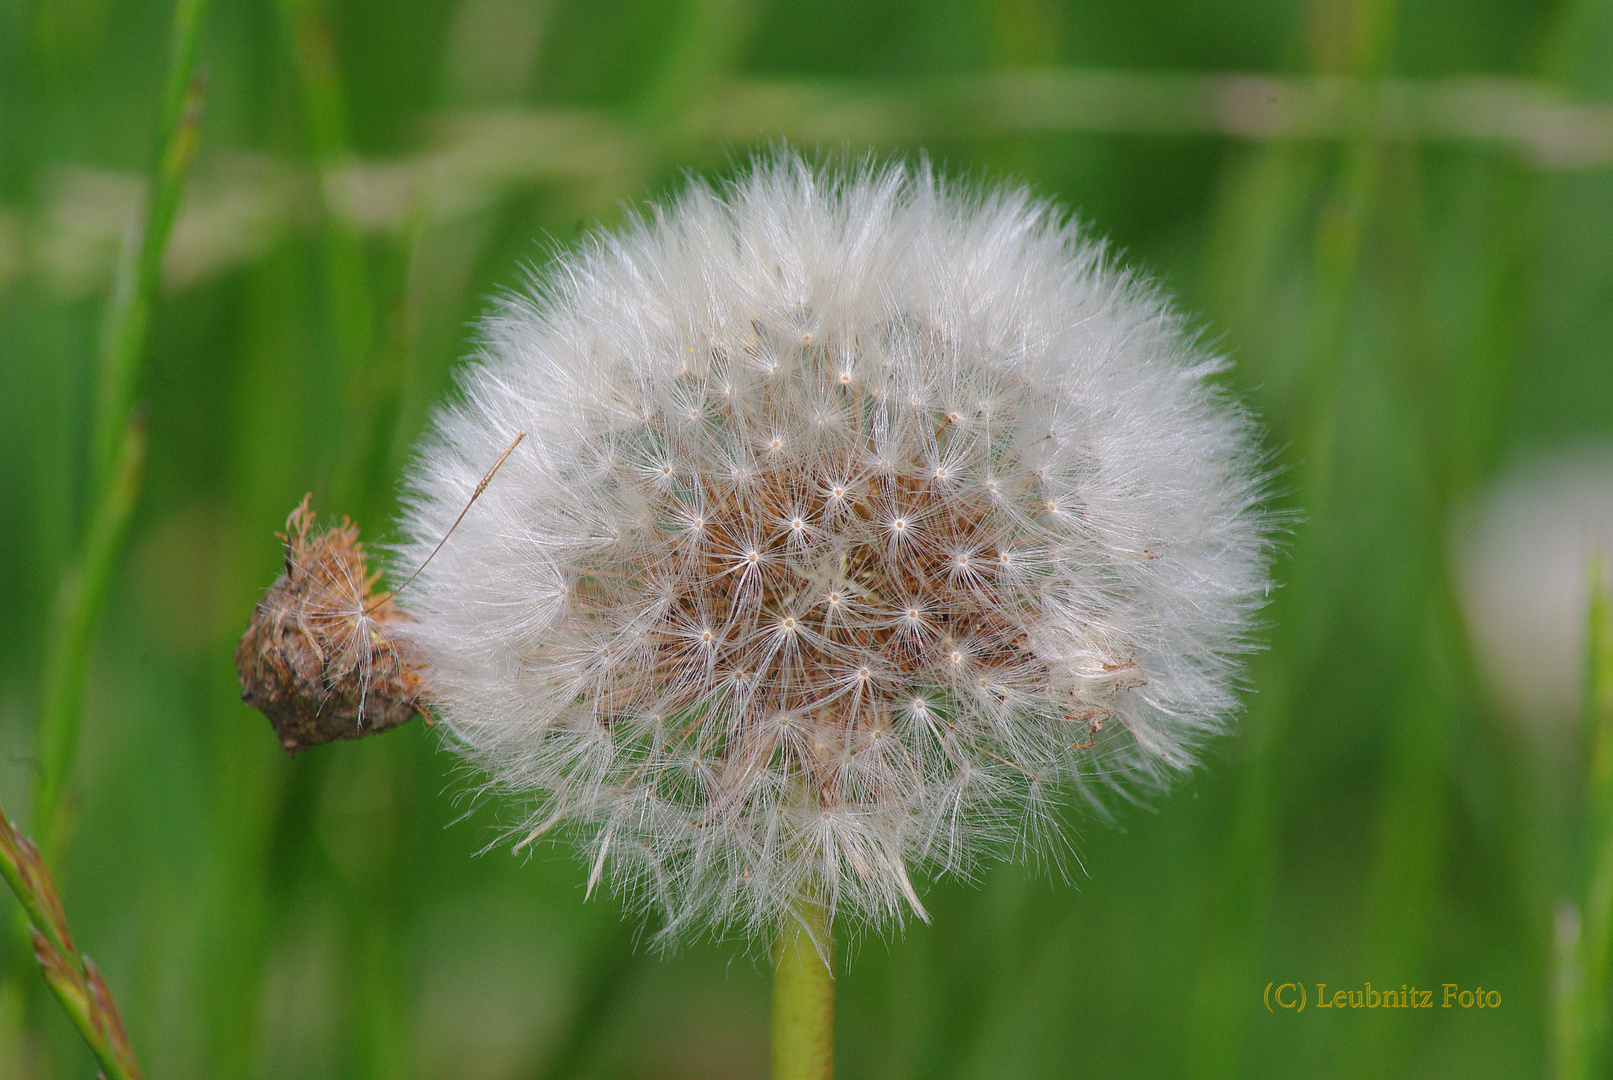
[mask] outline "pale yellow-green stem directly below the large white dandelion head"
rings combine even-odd
[[[832,962],[823,906],[803,906],[773,948],[773,1080],[834,1075]]]

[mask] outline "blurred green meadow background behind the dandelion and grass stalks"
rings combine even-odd
[[[0,800],[24,829],[171,18],[0,0]],[[1521,714],[1557,708],[1553,658],[1476,659],[1450,551],[1510,463],[1613,437],[1613,3],[245,0],[206,11],[198,73],[55,856],[147,1075],[765,1074],[765,957],[636,948],[565,846],[482,851],[510,819],[419,724],[287,759],[231,651],[305,490],[387,538],[490,293],[779,139],[1074,208],[1234,358],[1303,511],[1237,733],[1169,795],[1077,816],[1073,882],[992,866],[921,888],[932,925],[842,933],[840,1074],[1550,1069],[1578,735]],[[0,1077],[92,1075],[18,925]],[[1268,1012],[1271,982],[1503,1004]]]

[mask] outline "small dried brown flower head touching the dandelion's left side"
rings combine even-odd
[[[240,698],[297,753],[424,716],[419,663],[395,635],[406,611],[373,593],[358,525],[315,532],[310,496],[286,519],[286,572],[258,601],[235,646]],[[311,535],[310,535],[311,534]]]

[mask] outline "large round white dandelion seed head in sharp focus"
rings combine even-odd
[[[561,255],[482,329],[397,566],[456,748],[692,930],[1057,846],[1236,706],[1258,432],[1057,210],[789,153]]]

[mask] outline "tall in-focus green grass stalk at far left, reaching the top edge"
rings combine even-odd
[[[60,804],[77,751],[90,638],[140,492],[145,422],[134,414],[134,387],[161,284],[163,251],[195,156],[202,90],[192,76],[205,10],[206,0],[179,0],[174,8],[145,216],[127,239],[106,309],[92,421],[89,529],[79,563],[61,579],[40,693],[34,833],[50,861],[60,859]]]

